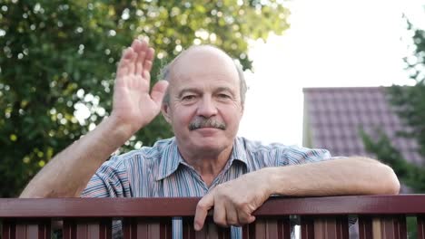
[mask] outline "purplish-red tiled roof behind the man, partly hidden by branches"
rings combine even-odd
[[[372,137],[382,129],[404,158],[420,163],[418,145],[396,135],[409,130],[391,109],[383,87],[306,88],[304,92],[304,130],[310,130],[313,148],[327,148],[334,156],[368,154],[359,136],[362,128]],[[304,137],[307,135],[304,131]],[[304,139],[304,142],[307,140]]]

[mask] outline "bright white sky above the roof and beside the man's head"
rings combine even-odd
[[[301,145],[302,88],[411,84],[402,14],[425,23],[420,0],[293,0],[291,27],[251,43],[253,72],[239,136]]]

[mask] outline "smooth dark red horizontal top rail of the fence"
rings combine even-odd
[[[193,216],[199,197],[0,198],[0,217]],[[425,195],[271,197],[254,215],[425,214]]]

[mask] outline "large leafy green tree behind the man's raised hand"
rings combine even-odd
[[[114,71],[133,38],[156,49],[155,75],[193,43],[251,68],[249,39],[282,33],[280,1],[4,0],[0,3],[0,196],[16,196],[60,150],[111,109]],[[79,117],[76,117],[79,115]],[[161,118],[121,148],[172,136]]]

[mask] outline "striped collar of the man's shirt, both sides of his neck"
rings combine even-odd
[[[232,153],[229,158],[230,162],[227,165],[230,167],[234,160],[238,160],[248,167],[247,158],[247,152],[243,145],[243,140],[241,138],[234,139]],[[156,180],[158,181],[165,177],[169,177],[177,170],[180,164],[184,164],[184,160],[177,148],[177,142],[175,138],[173,138],[172,142],[162,150],[161,162]],[[224,168],[224,170],[225,169],[227,168]]]

